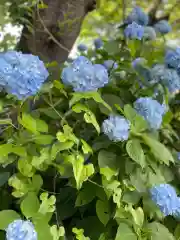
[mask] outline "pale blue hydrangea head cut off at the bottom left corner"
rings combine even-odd
[[[7,240],[37,240],[37,233],[30,221],[15,220],[6,229]]]

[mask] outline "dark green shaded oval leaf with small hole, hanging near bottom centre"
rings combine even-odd
[[[106,225],[110,219],[109,205],[107,201],[97,200],[96,213],[99,220]]]

